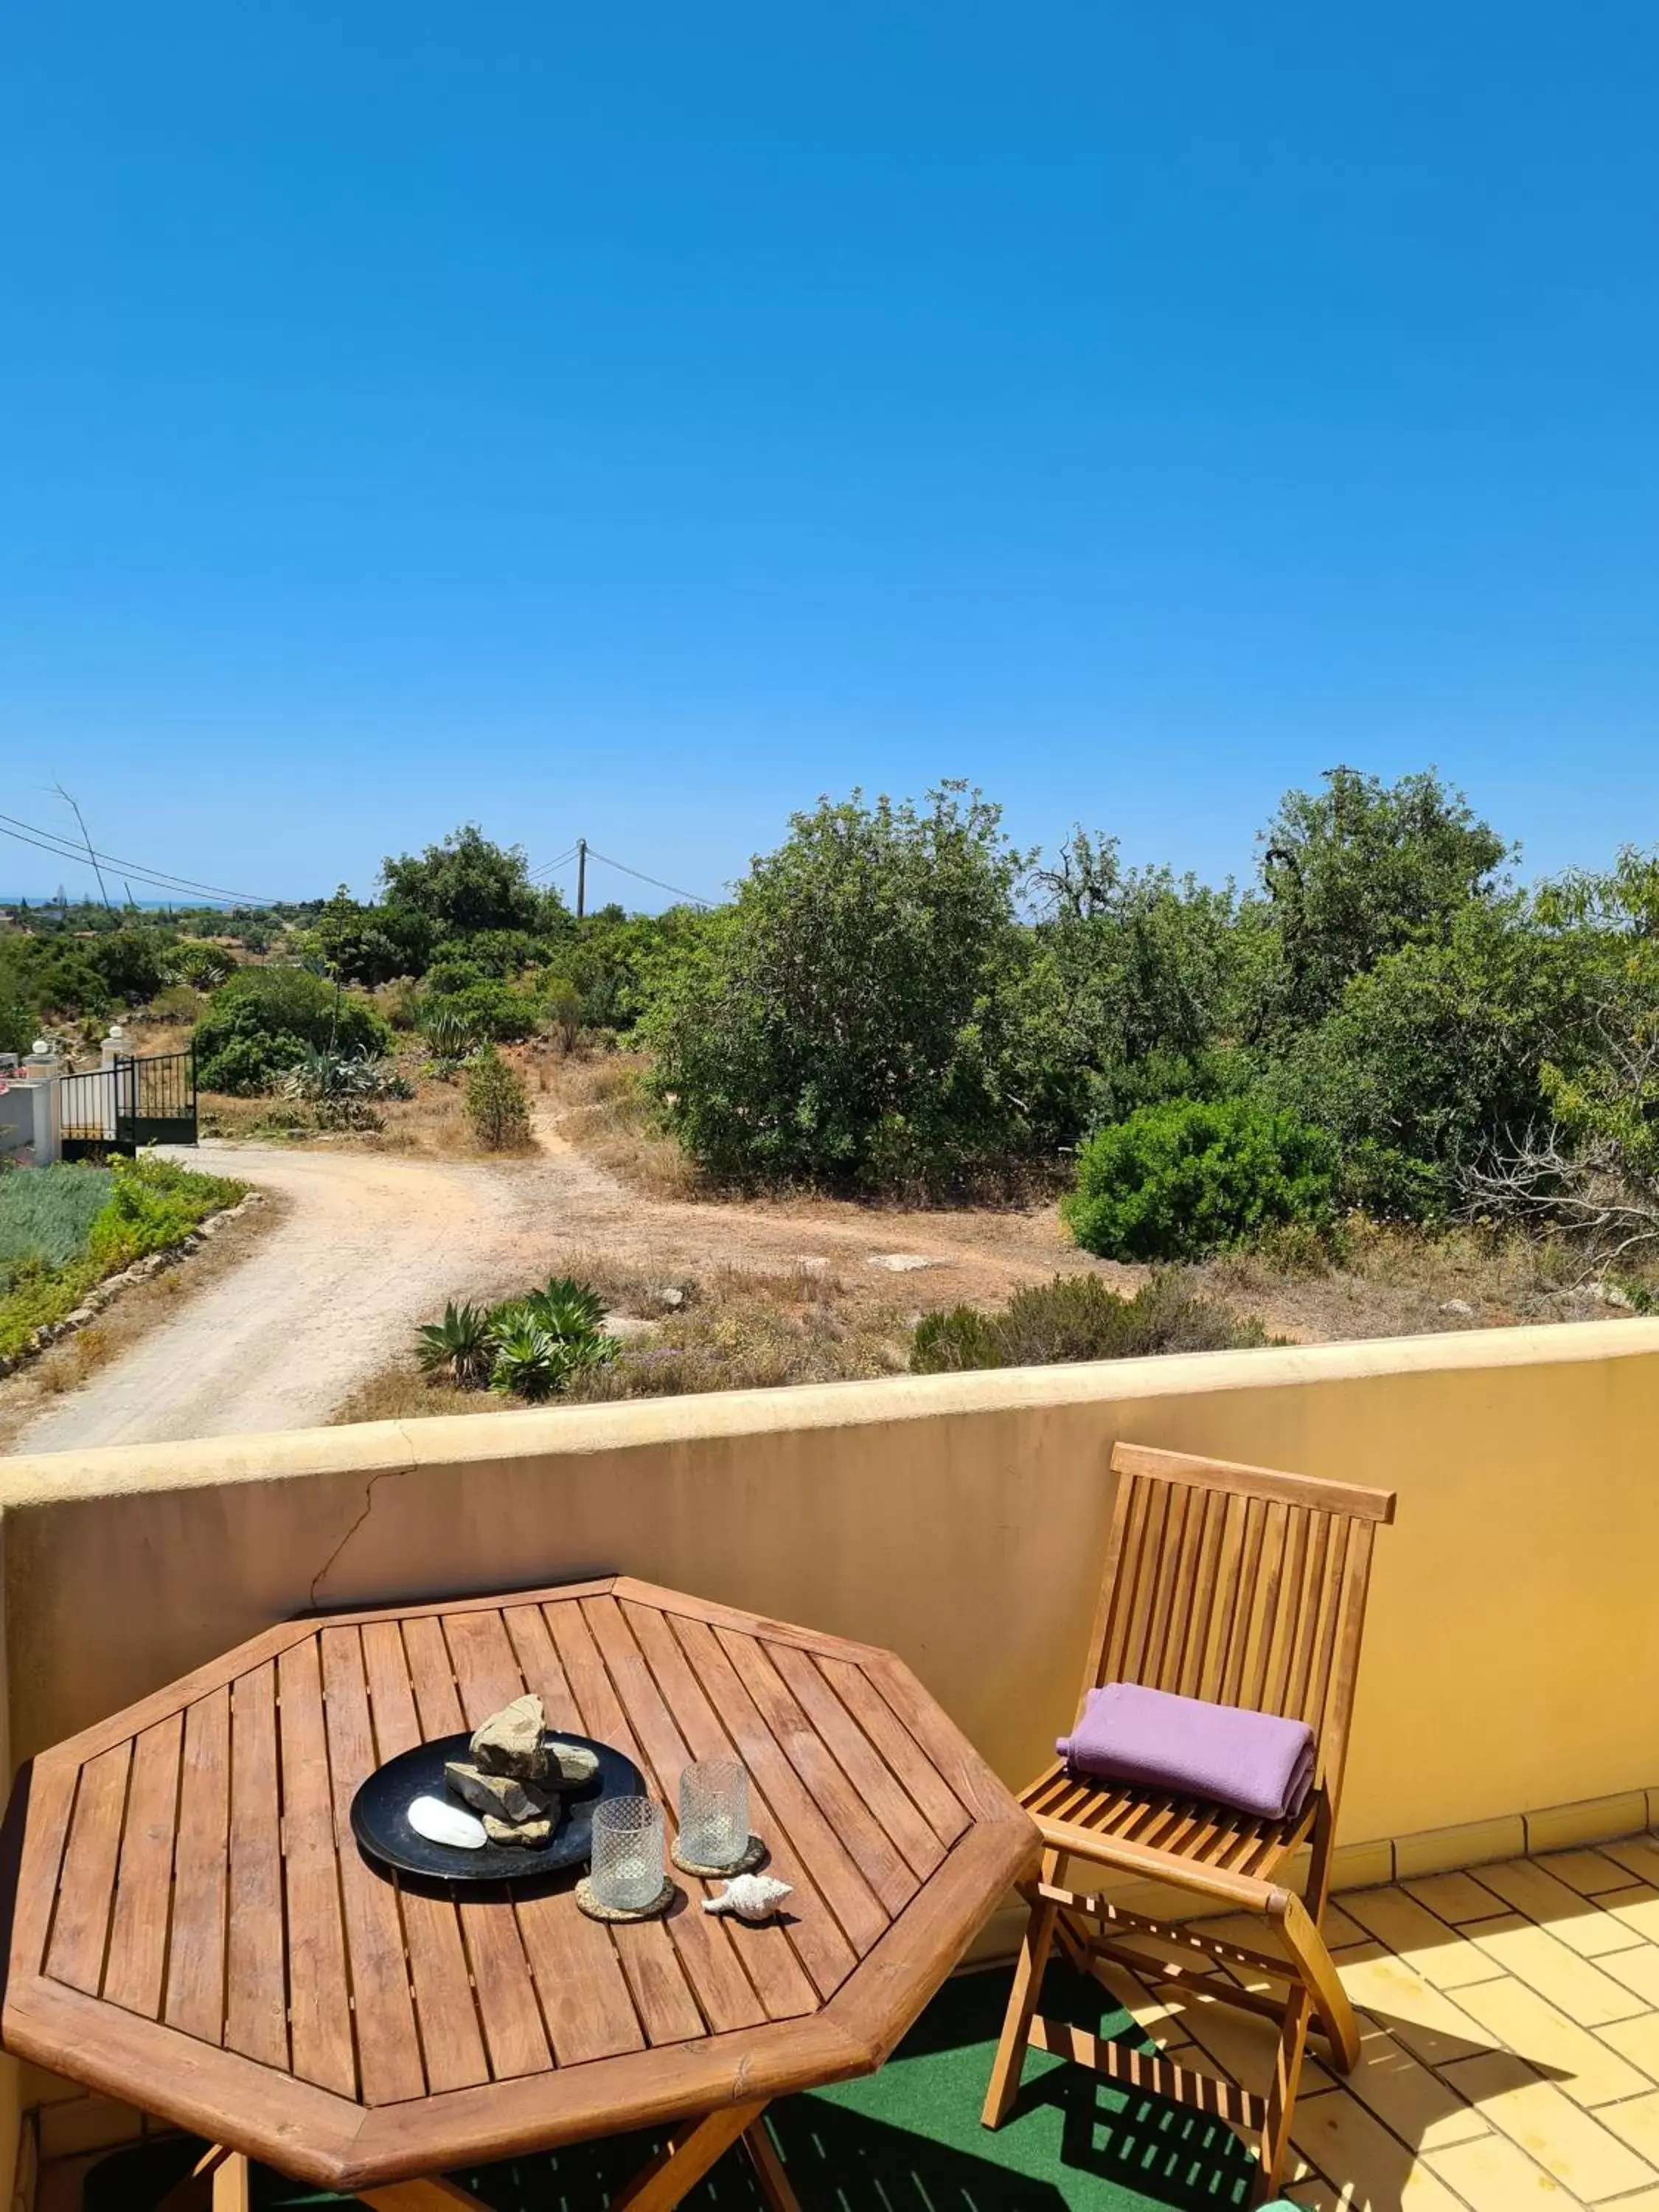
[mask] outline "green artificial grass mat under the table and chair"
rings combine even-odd
[[[1254,2161],[1217,2121],[1157,2097],[1126,2097],[1042,2053],[1026,2057],[1013,2117],[980,2126],[1009,1975],[947,1982],[887,2066],[865,2081],[770,2110],[801,2212],[1228,2212],[1245,2205]],[[1106,1993],[1064,1966],[1044,1982],[1048,2015],[1150,2048]],[[602,2212],[657,2146],[655,2135],[507,2159],[453,2179],[495,2212]],[[84,2212],[153,2205],[199,2154],[164,2141],[115,2152],[86,2177]],[[257,2212],[341,2203],[259,2170]],[[748,2159],[730,2152],[686,2212],[763,2212]]]

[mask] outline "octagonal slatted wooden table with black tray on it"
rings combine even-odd
[[[734,1752],[794,1885],[765,1927],[586,1920],[573,1878],[489,1893],[365,1860],[376,1765],[535,1690],[672,1812]],[[617,2199],[677,2205],[761,2112],[872,2073],[1029,1871],[1037,1834],[889,1652],[626,1577],[301,1619],[44,1752],[13,1798],[9,2051],[248,2159],[396,2212],[434,2177],[659,2126]]]

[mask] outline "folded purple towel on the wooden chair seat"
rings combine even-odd
[[[1091,1690],[1077,1730],[1055,1750],[1073,1774],[1232,1805],[1259,1820],[1294,1820],[1314,1783],[1307,1721],[1133,1681]]]

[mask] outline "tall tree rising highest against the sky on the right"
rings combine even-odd
[[[1511,858],[1433,770],[1387,785],[1332,768],[1323,792],[1285,792],[1261,843],[1283,945],[1281,1013],[1294,1026],[1323,1020],[1387,953],[1442,942],[1471,900],[1498,896]]]

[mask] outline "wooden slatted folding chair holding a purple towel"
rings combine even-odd
[[[1009,2117],[1026,2048],[1053,2051],[1124,2088],[1197,2106],[1254,2137],[1261,2157],[1254,2201],[1263,2203],[1290,2148],[1310,2017],[1343,2073],[1360,2048],[1318,1922],[1332,1878],[1371,1528],[1394,1520],[1394,1493],[1141,1444],[1119,1444],[1113,1469],[1117,1502],[1079,1717],[1088,1690],[1108,1681],[1292,1714],[1314,1730],[1314,1790],[1298,1818],[1256,1820],[1133,1785],[1073,1781],[1051,1765],[1022,1796],[1042,1829],[1044,1856],[1026,1891],[1031,1920],[982,2117],[987,2128]],[[1312,1860],[1298,1898],[1272,1876],[1303,1843]],[[1066,1860],[1164,1882],[1201,1905],[1261,1913],[1274,1924],[1283,1955],[1206,1938],[1201,1922],[1172,1927],[1066,1889],[1060,1880]],[[1082,1971],[1117,1960],[1155,1986],[1279,2020],[1267,2095],[1044,2020],[1037,2000],[1055,1936]],[[1155,1947],[1157,1955],[1126,1938]],[[1243,1969],[1256,1986],[1245,1989],[1228,1966]],[[1287,1982],[1285,1995],[1261,1989],[1261,1973]]]

